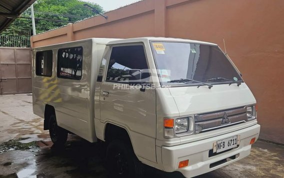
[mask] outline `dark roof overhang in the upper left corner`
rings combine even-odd
[[[9,26],[35,0],[0,0],[0,32]]]

